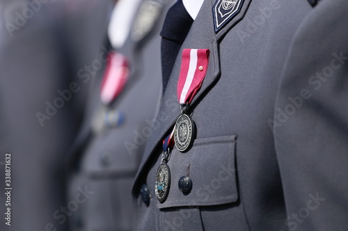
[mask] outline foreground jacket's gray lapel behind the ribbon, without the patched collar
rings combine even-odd
[[[214,40],[212,41],[214,25],[211,26],[211,30],[209,31],[209,33],[207,33],[207,28],[203,26],[205,25],[204,22],[212,22],[212,19],[207,20],[203,19],[203,17],[200,17],[200,15],[207,15],[206,11],[211,11],[211,8],[212,3],[210,1],[205,1],[205,3],[203,3],[202,9],[200,10],[200,13],[198,14],[198,17],[196,18],[195,22],[193,22],[191,31],[189,32],[189,35],[187,35],[187,37],[192,36],[194,33],[196,33],[196,31],[200,33],[203,32],[203,34],[205,33],[206,35],[204,37],[201,37],[199,42],[196,41],[194,47],[192,44],[189,44],[188,42],[184,42],[184,44],[182,45],[182,49],[210,49],[209,67],[207,70],[207,74],[205,76],[205,80],[203,81],[200,91],[197,93],[196,97],[193,99],[191,103],[192,108],[194,108],[194,105],[196,105],[201,96],[205,92],[207,92],[207,89],[209,89],[212,83],[214,83],[214,81],[216,81],[219,77],[219,65],[217,63],[219,62],[219,59],[216,58],[217,45]],[[177,60],[175,61],[175,65],[173,67],[173,71],[169,79],[168,87],[166,88],[166,92],[161,101],[161,108],[159,110],[159,113],[157,114],[157,118],[155,119],[152,132],[153,135],[148,138],[147,145],[145,146],[145,153],[139,166],[139,171],[138,173],[136,173],[136,180],[134,182],[134,185],[136,185],[136,182],[139,180],[139,176],[142,175],[141,172],[143,171],[144,166],[146,166],[148,162],[150,162],[150,157],[152,155],[159,154],[156,152],[159,150],[157,147],[161,144],[161,141],[164,139],[167,133],[171,132],[171,129],[173,128],[177,117],[179,117],[181,114],[180,104],[177,101],[177,80],[179,78],[180,73],[182,49],[180,49],[180,52],[177,55]]]

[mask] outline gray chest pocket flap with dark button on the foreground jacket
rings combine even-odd
[[[236,167],[236,136],[196,139],[187,153],[174,148],[168,166],[171,169],[171,186],[160,209],[168,207],[192,207],[223,205],[238,200]],[[188,176],[191,190],[183,193],[179,180]]]

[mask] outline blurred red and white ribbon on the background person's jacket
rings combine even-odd
[[[129,69],[127,58],[120,53],[112,51],[109,53],[109,60],[102,80],[100,100],[104,104],[111,103],[122,92],[127,83]]]

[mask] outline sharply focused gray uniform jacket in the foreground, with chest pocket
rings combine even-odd
[[[210,51],[187,111],[196,138],[173,148],[160,203],[180,51],[134,182],[135,230],[347,230],[347,1],[244,0],[217,32],[215,3],[229,4],[204,1],[182,45]]]

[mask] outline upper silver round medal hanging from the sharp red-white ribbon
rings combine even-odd
[[[177,150],[183,152],[193,141],[193,121],[187,114],[182,114],[176,121],[174,141]]]

